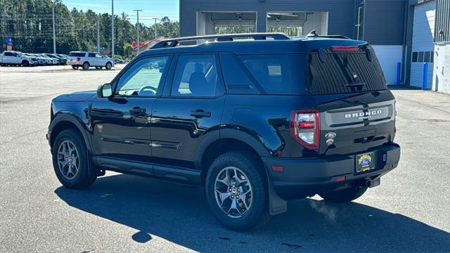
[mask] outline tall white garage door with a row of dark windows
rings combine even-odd
[[[411,86],[422,87],[424,63],[428,63],[427,87],[431,89],[432,86],[435,9],[435,1],[418,4],[414,7],[411,79],[409,82]]]

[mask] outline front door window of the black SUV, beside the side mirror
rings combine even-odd
[[[116,95],[155,96],[162,87],[162,74],[169,56],[144,58],[125,72],[117,84]]]

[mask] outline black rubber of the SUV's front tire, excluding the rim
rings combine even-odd
[[[75,144],[77,153],[79,155],[79,169],[72,179],[68,179],[63,175],[58,166],[58,148],[64,141],[70,141]],[[51,149],[51,155],[53,160],[53,169],[58,177],[60,183],[67,188],[82,189],[91,186],[96,181],[96,173],[89,171],[89,153],[86,150],[86,144],[80,134],[73,130],[68,129],[60,132],[56,136],[55,142]]]

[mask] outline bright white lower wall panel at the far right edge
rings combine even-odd
[[[435,46],[433,90],[450,93],[450,43]]]

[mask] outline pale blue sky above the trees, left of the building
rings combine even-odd
[[[127,13],[131,22],[136,22],[136,9],[139,12],[139,22],[153,25],[152,18],[167,16],[170,20],[179,20],[179,0],[113,0],[114,14]],[[69,10],[77,8],[87,11],[91,9],[96,13],[111,13],[111,0],[63,0]]]

